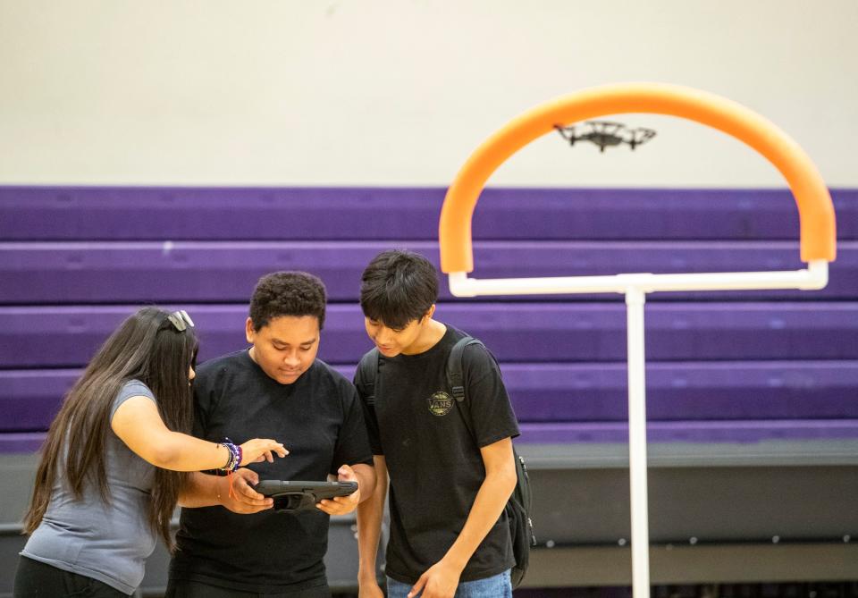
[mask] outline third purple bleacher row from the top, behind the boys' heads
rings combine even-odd
[[[245,346],[246,305],[181,307],[197,323],[200,359]],[[0,307],[0,364],[83,366],[134,309]],[[504,362],[626,358],[626,308],[616,302],[441,303],[437,314],[483,339]],[[369,347],[360,307],[329,306],[320,357],[354,363]],[[652,303],[646,307],[646,351],[651,361],[858,359],[858,304]]]

